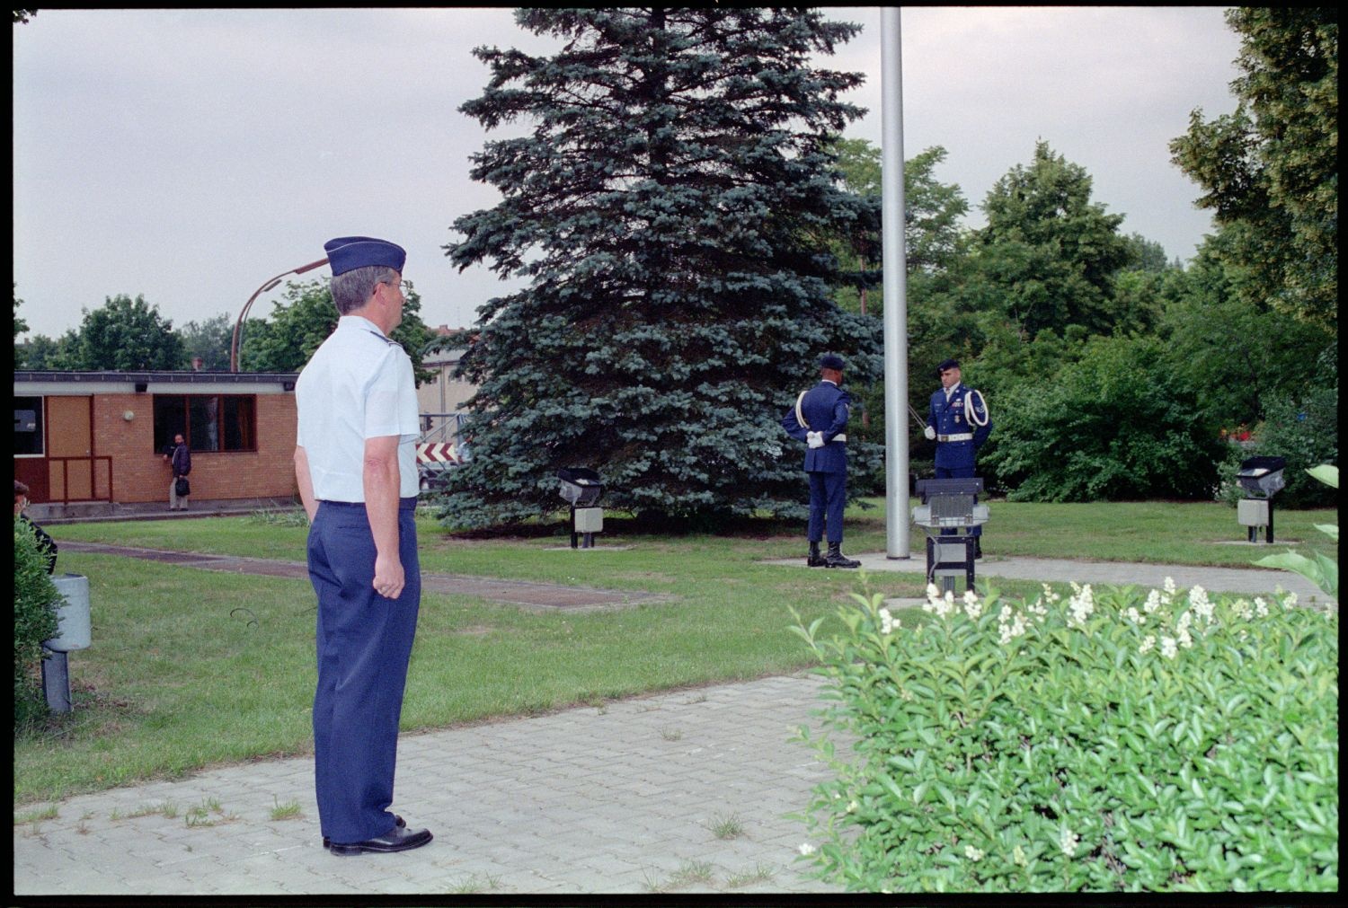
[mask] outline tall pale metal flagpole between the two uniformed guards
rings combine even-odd
[[[899,8],[880,11],[880,172],[884,248],[886,556],[909,544],[909,299],[903,251],[903,54]]]

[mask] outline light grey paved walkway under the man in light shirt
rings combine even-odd
[[[791,741],[797,726],[817,727],[818,690],[766,678],[403,736],[394,810],[435,841],[402,854],[321,846],[311,758],[70,798],[51,819],[15,824],[13,890],[836,892],[801,874],[803,826],[785,816],[826,777]],[[299,815],[274,819],[286,804]],[[191,824],[202,806],[213,824]],[[725,822],[739,833],[717,838]]]

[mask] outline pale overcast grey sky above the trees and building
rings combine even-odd
[[[1081,164],[1122,230],[1188,260],[1197,187],[1170,163],[1189,112],[1235,109],[1236,36],[1217,7],[922,7],[902,12],[905,151],[942,145],[981,225],[1038,139]],[[825,61],[867,74],[849,137],[880,141],[880,9]],[[546,53],[507,8],[42,9],[13,26],[13,279],[30,337],[144,294],[175,326],[233,319],[268,278],[369,234],[408,251],[426,323],[470,325],[518,284],[456,271],[450,224],[489,207],[468,178],[484,133],[480,44]],[[500,133],[504,135],[504,133]],[[326,273],[326,268],[305,278]],[[271,313],[279,291],[253,306]]]

